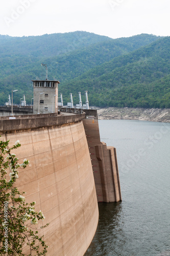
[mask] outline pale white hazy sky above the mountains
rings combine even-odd
[[[170,36],[170,0],[6,0],[1,6],[3,35],[81,30],[111,38]]]

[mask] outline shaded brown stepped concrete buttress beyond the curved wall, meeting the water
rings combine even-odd
[[[107,147],[106,143],[101,142],[97,111],[83,111],[86,113],[83,124],[89,147],[98,202],[122,201],[116,148]]]

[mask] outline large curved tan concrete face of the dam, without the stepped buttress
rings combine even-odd
[[[38,228],[50,223],[40,231],[49,246],[49,256],[82,256],[98,225],[98,202],[86,135],[80,115],[79,120],[74,116],[70,122],[36,127],[28,125],[32,121],[28,118],[27,129],[25,121],[20,130],[17,125],[10,130],[14,127],[10,123],[17,120],[4,120],[8,129],[1,129],[2,138],[9,139],[10,146],[20,140],[21,147],[15,150],[19,162],[30,160],[26,169],[19,170],[17,186],[26,191],[26,201],[36,201],[36,210],[41,209],[44,214],[45,220],[39,222]]]

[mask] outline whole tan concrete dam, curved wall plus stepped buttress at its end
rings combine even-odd
[[[39,230],[47,255],[82,256],[98,225],[98,202],[122,201],[116,151],[100,141],[96,110],[4,116],[0,125],[9,146],[19,139],[19,162],[30,161],[17,187],[43,212],[38,227],[49,223]]]

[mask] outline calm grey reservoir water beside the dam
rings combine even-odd
[[[116,147],[122,202],[99,203],[86,256],[170,255],[170,123],[99,120]]]

